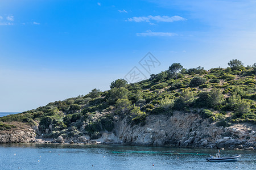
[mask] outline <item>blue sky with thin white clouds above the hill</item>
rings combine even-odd
[[[1,0],[0,112],[109,90],[115,79],[148,78],[174,62],[253,65],[255,8],[250,0]]]

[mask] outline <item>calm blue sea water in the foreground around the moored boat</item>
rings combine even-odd
[[[223,156],[241,154],[230,163],[205,162],[209,154],[216,150],[1,144],[0,169],[256,169],[255,151],[222,151]]]

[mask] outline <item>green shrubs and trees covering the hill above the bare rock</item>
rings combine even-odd
[[[127,118],[132,126],[143,126],[148,115],[172,116],[174,111],[200,114],[218,126],[255,124],[256,63],[244,67],[233,59],[229,66],[206,71],[204,67],[183,69],[180,63],[174,63],[168,70],[138,83],[117,79],[108,91],[94,88],[85,96],[0,117],[0,130],[13,129],[12,122],[21,122],[39,125],[40,134],[46,137],[98,138],[101,131],[113,130],[116,116]]]

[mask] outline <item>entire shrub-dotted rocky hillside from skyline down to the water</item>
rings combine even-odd
[[[109,134],[110,143],[115,138],[115,141],[121,140],[131,145],[173,143],[176,146],[189,146],[189,144],[196,146],[195,142],[180,139],[196,136],[192,133],[198,133],[200,129],[194,130],[195,126],[206,126],[204,128],[222,130],[223,133],[224,131],[227,133],[229,131],[227,129],[234,129],[236,126],[240,127],[237,129],[244,128],[243,133],[248,135],[240,137],[234,134],[235,132],[233,134],[230,132],[230,139],[241,138],[255,143],[253,130],[256,124],[256,65],[245,67],[240,61],[233,59],[229,62],[229,66],[226,69],[204,70],[204,67],[183,69],[179,63],[174,63],[169,70],[152,74],[150,79],[138,83],[128,84],[126,80],[117,79],[110,84],[109,91],[102,92],[95,88],[87,95],[55,101],[31,111],[0,117],[0,134],[29,129],[27,131],[36,133],[34,135],[37,138],[61,137],[59,142],[70,142],[71,139],[73,142],[79,137],[100,138],[99,141],[104,138],[105,142],[108,142],[106,134]],[[183,120],[175,123],[182,117]],[[159,120],[158,125],[156,120]],[[173,129],[174,126],[168,125],[168,122],[164,122],[167,120],[177,129],[180,128],[180,131]],[[180,122],[183,123],[180,124]],[[145,141],[145,138],[140,139],[141,143],[135,142],[143,134],[152,134],[152,128],[150,128],[152,124],[155,130],[158,130],[158,134],[165,133],[164,137],[161,135],[158,137],[166,138],[165,142],[161,140],[156,141],[155,144],[141,142]],[[168,131],[170,129],[176,130],[172,135],[175,139],[167,138],[168,133],[172,133]],[[135,134],[134,130],[138,134],[136,139],[132,137]],[[186,130],[188,135],[184,137]],[[217,134],[214,134],[216,131],[212,130],[201,130],[201,133],[208,134],[212,139],[210,137],[203,139],[200,136],[197,142],[208,138],[208,143],[211,140],[213,143],[220,140],[221,137],[217,137]],[[215,135],[214,139],[213,135]],[[26,141],[15,140],[6,141],[5,139],[3,142],[2,139],[2,143]],[[168,140],[169,142],[166,142]],[[182,144],[184,140],[189,141],[187,145]],[[27,140],[27,142],[31,141]],[[207,142],[204,143],[207,145]],[[246,146],[253,145],[247,143]]]

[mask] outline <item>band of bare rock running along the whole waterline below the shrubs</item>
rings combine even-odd
[[[234,124],[228,128],[209,123],[198,114],[175,112],[172,116],[150,115],[145,125],[131,125],[129,118],[114,117],[113,131],[102,131],[101,138],[59,136],[55,139],[36,135],[36,129],[0,134],[0,143],[60,143],[76,145],[121,144],[133,146],[175,146],[230,150],[256,149],[256,127]]]

